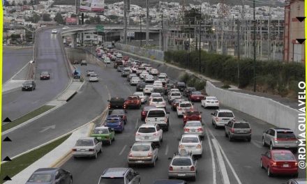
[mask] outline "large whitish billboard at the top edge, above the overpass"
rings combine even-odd
[[[80,12],[103,12],[105,0],[81,0]]]

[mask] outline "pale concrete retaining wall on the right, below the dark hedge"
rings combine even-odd
[[[269,98],[219,89],[209,81],[207,81],[206,92],[208,95],[216,96],[225,106],[259,118],[276,127],[290,128],[296,135],[299,133],[297,128],[299,111],[296,109]]]

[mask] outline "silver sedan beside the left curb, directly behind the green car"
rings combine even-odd
[[[77,140],[73,147],[73,156],[77,157],[95,157],[103,151],[103,144],[94,137],[82,137]]]

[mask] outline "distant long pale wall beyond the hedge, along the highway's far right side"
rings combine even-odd
[[[150,59],[156,59],[159,61],[164,61],[164,52],[161,50],[157,49],[145,49],[145,48],[140,48],[140,47],[135,47],[133,45],[125,45],[121,43],[116,43],[115,44],[117,49],[121,49],[126,52],[130,52],[133,54],[137,54],[140,56],[145,56]]]

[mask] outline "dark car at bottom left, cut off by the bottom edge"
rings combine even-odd
[[[31,183],[73,183],[73,175],[61,168],[40,168],[36,169],[26,184]]]

